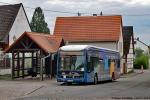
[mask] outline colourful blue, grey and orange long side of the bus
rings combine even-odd
[[[87,53],[88,54],[88,53]],[[94,55],[96,54],[96,52],[94,52]],[[91,55],[92,57],[93,54]],[[89,82],[94,82],[94,75],[95,73],[97,73],[98,76],[98,81],[104,81],[104,80],[111,80],[113,73],[117,76],[117,78],[119,78],[119,67],[118,67],[118,62],[119,61],[119,54],[118,53],[114,53],[111,51],[105,51],[105,50],[99,50],[99,63],[97,63],[96,65],[94,65],[94,71],[89,72],[89,73],[85,73],[85,80],[87,83]],[[95,61],[95,60],[94,60]],[[95,63],[95,62],[94,62]],[[88,66],[88,63],[87,65]]]

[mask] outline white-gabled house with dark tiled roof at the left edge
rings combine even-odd
[[[3,51],[25,31],[31,29],[22,3],[0,5],[0,62],[6,57]]]

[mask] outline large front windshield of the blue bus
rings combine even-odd
[[[60,71],[84,71],[84,56],[79,53],[61,53]]]

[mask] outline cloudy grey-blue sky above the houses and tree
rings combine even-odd
[[[53,33],[55,19],[59,16],[92,16],[92,14],[122,15],[123,26],[133,26],[135,38],[150,45],[150,0],[1,0],[0,2],[15,4],[23,3],[29,21],[34,9],[41,7],[44,10],[45,20]],[[2,3],[0,3],[2,4]],[[60,12],[70,13],[60,13]],[[138,44],[142,48],[145,46]]]

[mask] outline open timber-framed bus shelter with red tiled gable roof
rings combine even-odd
[[[60,36],[24,32],[5,51],[6,53],[12,53],[12,78],[24,78],[29,76],[31,72],[54,76],[57,68],[56,52],[64,44]]]

